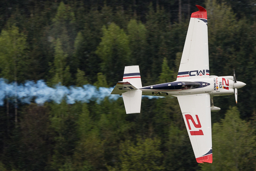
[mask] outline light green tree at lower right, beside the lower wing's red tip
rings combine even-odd
[[[213,162],[201,165],[203,171],[240,171],[255,168],[255,136],[248,124],[239,118],[237,107],[225,119],[212,126]]]

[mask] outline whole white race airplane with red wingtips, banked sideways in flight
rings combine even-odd
[[[210,76],[208,56],[207,12],[192,13],[181,57],[177,80],[142,87],[139,66],[125,66],[123,81],[111,94],[123,95],[126,114],[140,113],[141,95],[177,96],[197,162],[212,163],[211,111],[213,96],[235,93],[246,84],[234,76]]]

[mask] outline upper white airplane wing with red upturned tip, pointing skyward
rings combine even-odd
[[[207,11],[192,13],[177,80],[209,77]]]

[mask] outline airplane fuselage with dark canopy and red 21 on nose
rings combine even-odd
[[[208,93],[212,96],[234,94],[233,76],[210,76],[203,79],[186,79],[139,88],[147,96],[182,96]]]

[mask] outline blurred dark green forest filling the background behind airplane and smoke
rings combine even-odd
[[[210,75],[247,85],[215,97],[213,163],[198,164],[177,98],[0,106],[1,171],[256,170],[255,0],[1,0],[0,78],[113,87],[124,66],[142,85],[177,76],[195,4],[207,9]],[[200,103],[200,102],[199,102]]]

